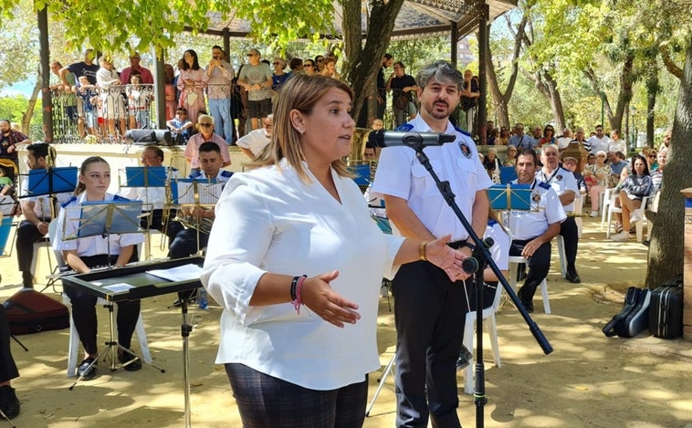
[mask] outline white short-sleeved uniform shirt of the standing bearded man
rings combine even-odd
[[[412,132],[430,131],[420,115],[409,124],[413,125]],[[445,133],[456,135],[456,141],[425,147],[424,152],[430,158],[440,180],[450,183],[452,192],[456,195],[456,204],[471,223],[471,209],[476,193],[488,189],[492,181],[478,159],[478,151],[471,138],[456,130],[449,122]],[[371,197],[389,194],[405,199],[435,237],[452,234],[452,241],[468,237],[466,229],[437,189],[433,177],[416,159],[413,149],[391,147],[382,151],[370,194]],[[398,234],[398,231],[394,232]]]

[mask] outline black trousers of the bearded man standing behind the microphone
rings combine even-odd
[[[425,427],[428,417],[435,427],[461,426],[456,359],[467,313],[464,287],[423,261],[401,266],[393,279],[397,427]]]

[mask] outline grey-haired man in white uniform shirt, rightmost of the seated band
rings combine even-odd
[[[554,145],[543,146],[540,150],[540,162],[543,164],[543,168],[536,172],[536,179],[549,184],[555,193],[558,193],[565,213],[571,213],[574,211],[574,199],[579,194],[579,186],[574,174],[561,168],[558,163],[559,160],[560,155]],[[574,222],[574,217],[568,216],[561,223],[560,235],[564,239],[565,257],[567,258],[566,278],[572,284],[579,284],[582,279],[579,277],[575,265],[579,246],[579,230]]]

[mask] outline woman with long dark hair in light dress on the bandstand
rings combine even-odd
[[[183,68],[178,77],[178,90],[180,90],[179,107],[187,110],[187,118],[194,124],[197,116],[204,107],[204,89],[209,77],[204,68],[199,67],[199,58],[193,49],[188,49],[183,54]]]

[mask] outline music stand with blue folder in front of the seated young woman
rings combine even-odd
[[[71,210],[80,210],[79,214],[79,225],[71,233],[66,233],[67,225],[69,222],[64,223],[63,229],[63,239],[77,239],[85,238],[89,236],[102,236],[107,240],[108,243],[108,254],[110,255],[110,235],[120,235],[120,234],[134,234],[140,232],[139,215],[142,213],[142,202],[141,201],[128,201],[128,202],[116,202],[116,201],[86,201],[78,206],[71,208]],[[69,210],[69,209],[68,209]],[[66,213],[66,217],[69,214]],[[109,267],[110,257],[109,257]],[[109,312],[110,320],[110,340],[107,341],[106,347],[100,351],[99,355],[89,364],[89,368],[85,372],[89,372],[91,366],[96,364],[103,356],[107,355],[110,351],[110,371],[117,371],[116,360],[118,359],[118,350],[129,353],[132,357],[139,360],[142,358],[135,354],[133,350],[125,348],[115,339],[115,319],[113,314],[113,302],[109,301],[106,305]],[[121,365],[121,368],[131,364],[131,361],[126,362]],[[164,370],[151,363],[153,367],[163,372]],[[72,390],[79,381],[81,381],[83,376],[79,376],[77,381],[72,383],[69,387]]]

